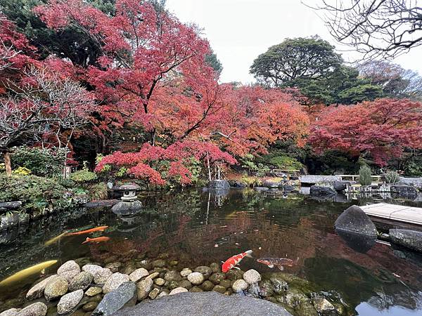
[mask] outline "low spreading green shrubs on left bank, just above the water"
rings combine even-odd
[[[28,211],[67,208],[70,199],[64,197],[65,191],[65,187],[49,178],[0,175],[0,201],[22,201]]]

